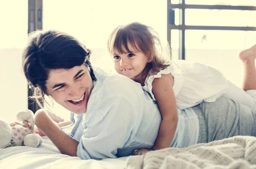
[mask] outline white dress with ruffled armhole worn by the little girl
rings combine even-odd
[[[154,101],[156,99],[152,93],[153,80],[169,73],[174,77],[176,104],[181,109],[193,107],[202,101],[213,102],[229,88],[228,80],[219,70],[198,62],[177,60],[157,74],[147,76],[143,90],[150,93]]]

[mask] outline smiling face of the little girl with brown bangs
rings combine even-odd
[[[142,78],[142,72],[148,63],[148,57],[128,43],[131,51],[120,54],[116,48],[113,50],[114,68],[117,73],[127,76],[135,81]]]

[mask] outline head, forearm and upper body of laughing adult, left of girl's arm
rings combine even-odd
[[[82,121],[75,127],[76,139],[62,132],[46,110],[35,113],[37,127],[62,153],[83,159],[115,158],[132,154],[134,148],[150,148],[161,121],[157,105],[139,84],[92,67],[89,57],[90,51],[68,34],[37,31],[29,36],[22,62],[35,97],[51,96]]]

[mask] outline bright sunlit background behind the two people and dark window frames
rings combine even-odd
[[[178,2],[172,0],[172,3]],[[256,0],[186,0],[186,3],[256,6]],[[92,50],[93,65],[112,68],[106,46],[113,28],[138,21],[155,28],[162,39],[167,39],[166,4],[166,0],[44,0],[43,29],[56,29],[77,37]],[[21,68],[27,15],[27,1],[0,1],[0,117],[9,122],[15,120],[18,111],[27,109],[27,85]],[[175,17],[177,22],[177,10]],[[256,11],[186,9],[185,18],[186,25],[256,26]],[[171,40],[175,60],[179,47],[177,30],[172,30]],[[243,70],[237,54],[255,43],[255,31],[188,30],[186,60],[218,68],[241,87]],[[61,117],[69,118],[68,111],[58,104],[49,108]]]

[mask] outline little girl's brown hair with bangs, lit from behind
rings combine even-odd
[[[163,45],[153,28],[138,22],[118,26],[108,38],[108,51],[110,54],[113,54],[114,49],[120,54],[131,53],[128,43],[148,56],[146,68],[151,73],[157,73],[170,65],[169,45]]]

